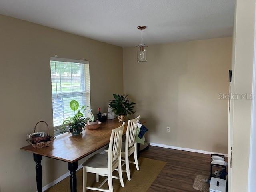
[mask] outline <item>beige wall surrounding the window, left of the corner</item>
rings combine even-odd
[[[35,192],[32,154],[20,147],[39,120],[53,133],[50,57],[89,60],[91,105],[104,112],[112,94],[123,93],[122,48],[8,16],[0,26],[0,191]],[[44,186],[67,164],[43,158],[42,172]]]

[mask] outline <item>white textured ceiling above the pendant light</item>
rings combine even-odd
[[[127,47],[232,36],[234,0],[0,0],[0,14]]]

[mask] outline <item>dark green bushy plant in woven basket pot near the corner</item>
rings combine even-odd
[[[134,114],[134,104],[129,103],[128,95],[116,95],[113,94],[114,100],[111,100],[109,105],[113,109],[113,112],[118,116],[118,122],[124,122],[127,114]]]

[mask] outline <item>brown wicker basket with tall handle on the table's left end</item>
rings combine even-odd
[[[36,126],[40,122],[44,122],[46,124],[46,126],[47,126],[47,135],[44,132],[36,132]],[[34,128],[34,133],[32,133],[28,136],[29,139],[27,139],[27,141],[36,149],[50,146],[52,140],[54,140],[56,137],[50,137],[49,136],[49,126],[48,126],[48,124],[45,121],[39,121],[39,122],[36,123],[36,126]]]

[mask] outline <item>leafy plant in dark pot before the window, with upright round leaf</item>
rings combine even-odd
[[[78,110],[78,107],[79,107],[79,103],[76,100],[70,101],[71,110],[76,112],[76,110]],[[74,116],[66,118],[66,120],[64,120],[60,128],[64,128],[64,131],[66,130],[66,128],[68,128],[69,132],[74,136],[80,135],[80,133],[82,132],[82,128],[85,126],[85,123],[88,121],[88,118],[84,117],[84,114],[82,114],[81,112],[81,111],[84,111],[84,108],[85,106],[82,106],[82,108],[78,110],[78,112]]]

